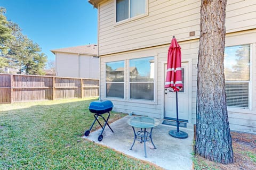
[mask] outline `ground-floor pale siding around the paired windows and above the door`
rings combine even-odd
[[[197,58],[198,53],[198,42],[192,41],[191,43],[181,43],[182,48],[182,60],[191,60],[191,58]],[[137,115],[147,115],[153,116],[156,118],[163,118],[164,112],[164,78],[163,78],[163,63],[167,62],[167,51],[169,45],[164,45],[161,47],[155,47],[150,49],[137,50],[134,52],[116,54],[107,57],[101,57],[101,99],[108,99],[114,103],[114,111],[129,113]],[[125,60],[126,66],[129,64],[129,60],[133,58],[155,56],[155,69],[156,69],[156,78],[155,78],[155,101],[141,101],[141,100],[129,100],[129,79],[125,79],[125,97],[124,99],[116,98],[106,98],[106,63]],[[117,60],[118,58],[118,60]],[[129,73],[126,72],[126,77],[129,77]],[[196,85],[195,85],[196,86]],[[191,105],[189,105],[191,107]],[[191,110],[191,109],[189,109]],[[194,113],[195,114],[195,113]],[[189,120],[189,123],[192,123]]]

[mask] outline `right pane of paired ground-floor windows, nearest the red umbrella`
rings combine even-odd
[[[154,101],[154,57],[130,60],[130,99]]]

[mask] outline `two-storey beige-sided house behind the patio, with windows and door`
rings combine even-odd
[[[113,101],[114,111],[175,119],[175,94],[164,89],[167,52],[175,36],[181,46],[184,84],[178,95],[179,118],[195,123],[201,1],[89,3],[98,8],[100,98]],[[121,68],[122,72],[109,73]],[[225,73],[230,129],[256,133],[254,0],[228,0]]]

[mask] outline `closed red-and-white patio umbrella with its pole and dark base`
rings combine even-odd
[[[179,130],[179,112],[178,112],[178,91],[183,88],[182,70],[181,70],[181,50],[180,46],[173,36],[167,56],[167,72],[164,87],[176,93],[176,117],[177,130],[169,131],[169,134],[175,138],[187,138],[186,132]]]

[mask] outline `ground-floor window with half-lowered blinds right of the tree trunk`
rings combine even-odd
[[[225,48],[227,106],[249,108],[250,45]]]

